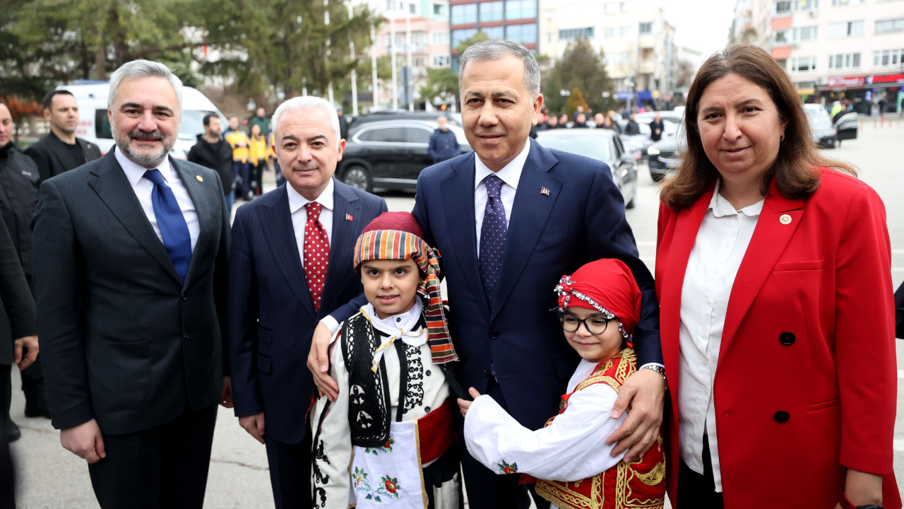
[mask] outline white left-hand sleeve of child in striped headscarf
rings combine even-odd
[[[311,488],[314,506],[322,509],[348,509],[352,464],[352,431],[348,424],[348,371],[342,355],[342,330],[330,341],[330,376],[339,384],[339,396],[331,402],[326,396],[311,408],[314,430],[311,460]]]

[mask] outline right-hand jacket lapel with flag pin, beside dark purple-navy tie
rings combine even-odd
[[[562,187],[561,180],[549,174],[550,169],[559,161],[540,144],[533,140],[530,143],[531,150],[518,181],[508,232],[505,235],[502,273],[499,275],[499,288],[496,290],[491,321],[502,309],[505,299],[512,293],[523,272],[524,265],[531,258]],[[541,189],[546,189],[549,194],[541,193]],[[471,196],[474,196],[473,192]]]

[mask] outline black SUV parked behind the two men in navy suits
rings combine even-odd
[[[414,191],[420,171],[433,164],[428,154],[436,120],[382,120],[353,126],[336,176],[349,186]],[[471,151],[465,131],[448,124],[462,153]]]

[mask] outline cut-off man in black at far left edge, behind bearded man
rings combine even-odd
[[[0,103],[0,124],[4,125],[0,128],[0,217],[9,230],[25,279],[31,286],[32,217],[38,204],[38,166],[13,143],[13,117],[3,103]],[[51,418],[41,360],[22,370],[21,375],[25,417]]]

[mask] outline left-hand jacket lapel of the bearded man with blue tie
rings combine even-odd
[[[166,254],[164,243],[154,232],[154,227],[147,220],[144,209],[138,202],[135,189],[129,183],[126,173],[119,166],[113,150],[104,158],[105,164],[91,171],[96,176],[89,181],[89,186],[98,194],[101,201],[110,209],[128,232],[135,237],[147,253],[170,274],[176,283],[182,285],[179,274],[175,272],[173,261]]]

